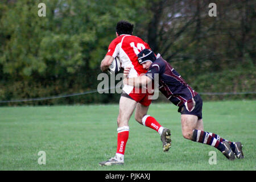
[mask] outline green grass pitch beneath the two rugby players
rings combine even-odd
[[[185,140],[171,104],[152,104],[148,114],[172,133],[162,151],[156,131],[130,119],[125,165],[101,167],[115,154],[118,105],[0,107],[0,170],[255,170],[256,101],[204,102],[204,130],[240,141],[245,159],[229,161],[218,150]],[[46,152],[46,165],[38,152]],[[217,164],[210,165],[209,152]]]

